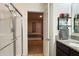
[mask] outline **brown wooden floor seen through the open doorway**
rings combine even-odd
[[[29,40],[28,53],[29,56],[43,56],[43,41]]]

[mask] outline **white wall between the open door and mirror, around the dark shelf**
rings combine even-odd
[[[58,34],[57,17],[60,13],[69,13],[71,16],[71,4],[54,3],[50,5],[49,37],[50,37],[50,55],[56,55],[55,36]]]

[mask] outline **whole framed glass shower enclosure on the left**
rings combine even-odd
[[[0,56],[23,55],[22,15],[10,4],[0,4]]]

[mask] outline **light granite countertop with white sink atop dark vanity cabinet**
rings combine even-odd
[[[57,41],[79,52],[79,41],[78,40],[68,39],[68,40],[57,40]]]

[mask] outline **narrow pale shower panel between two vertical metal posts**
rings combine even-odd
[[[21,56],[22,54],[22,39],[21,39],[21,17],[15,17],[16,24],[16,55]]]

